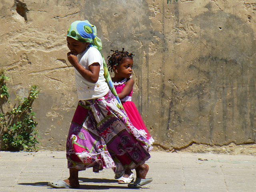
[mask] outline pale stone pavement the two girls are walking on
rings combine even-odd
[[[129,189],[112,170],[79,173],[80,189],[54,189],[48,181],[68,177],[65,152],[0,151],[0,192],[255,192],[256,156],[151,152],[152,183]]]

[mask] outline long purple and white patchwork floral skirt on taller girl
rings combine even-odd
[[[80,100],[66,142],[68,168],[134,169],[150,158],[150,142],[117,107],[115,96]]]

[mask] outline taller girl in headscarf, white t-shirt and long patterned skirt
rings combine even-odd
[[[130,187],[147,184],[150,179],[145,179],[148,166],[144,162],[150,158],[148,152],[152,146],[120,110],[122,104],[114,96],[96,26],[87,20],[73,22],[68,29],[67,44],[79,99],[66,142],[70,176],[48,185],[79,188],[78,171],[89,167],[94,172],[112,168],[116,173],[135,168],[140,182]]]

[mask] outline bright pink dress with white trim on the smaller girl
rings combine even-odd
[[[116,89],[117,94],[122,92],[122,90],[125,86],[124,83],[126,81],[127,81],[127,79],[124,78],[124,80],[122,80],[121,82],[114,82],[114,87]],[[132,90],[133,90],[133,88],[132,88]],[[154,142],[154,139],[150,136],[148,129],[146,128],[146,125],[144,124],[144,122],[142,120],[140,112],[136,108],[134,102],[132,102],[132,91],[130,92],[130,94],[128,94],[128,96],[123,98],[121,100],[121,102],[122,102],[122,105],[124,107],[124,110],[125,110],[128,118],[132,122],[132,125],[134,127],[136,127],[138,130],[140,130],[141,132],[144,132],[144,134],[146,134],[146,138],[148,139],[150,144],[152,144]]]

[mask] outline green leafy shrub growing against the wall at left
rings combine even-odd
[[[37,150],[36,144],[39,144],[37,138],[39,132],[36,129],[37,122],[34,121],[35,113],[32,112],[31,106],[36,98],[38,98],[40,88],[37,85],[31,86],[28,98],[16,95],[14,106],[9,100],[9,92],[5,81],[9,80],[4,75],[4,71],[0,71],[0,126],[4,129],[2,134],[3,149],[11,151]],[[3,112],[3,105],[8,104],[8,111]]]

